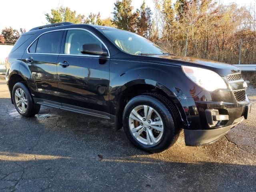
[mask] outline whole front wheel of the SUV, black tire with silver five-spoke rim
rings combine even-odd
[[[157,118],[151,116],[148,121],[145,117],[145,109],[148,114],[153,109],[151,114]],[[140,116],[136,116],[137,114]],[[141,120],[141,117],[144,119]],[[166,150],[176,142],[180,134],[181,120],[177,110],[166,98],[158,94],[145,94],[132,98],[124,108],[122,119],[124,131],[132,144],[147,152],[157,153]],[[144,121],[145,119],[148,123]],[[157,126],[160,128],[153,124],[159,124]],[[143,131],[140,126],[143,127]]]

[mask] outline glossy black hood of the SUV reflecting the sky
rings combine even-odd
[[[162,64],[185,65],[206,68],[214,72],[217,72],[220,76],[227,76],[228,74],[240,72],[240,69],[238,69],[234,65],[205,59],[181,57],[175,55],[152,55],[141,57],[143,57],[143,60],[157,61],[158,63],[160,62]]]

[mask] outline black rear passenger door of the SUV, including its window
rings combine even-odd
[[[64,30],[41,34],[22,57],[31,71],[34,98],[58,101],[57,59]]]

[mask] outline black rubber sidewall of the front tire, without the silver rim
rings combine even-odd
[[[132,135],[132,132],[130,131],[129,127],[129,116],[131,111],[139,105],[148,105],[154,110],[158,112],[160,115],[163,125],[164,125],[164,131],[163,131],[163,136],[160,139],[160,141],[157,144],[154,145],[146,145],[140,143],[134,136]],[[128,138],[132,141],[133,144],[135,144],[137,147],[141,148],[142,150],[146,150],[149,152],[159,152],[162,151],[166,148],[168,148],[172,144],[172,140],[174,140],[175,134],[174,134],[174,123],[172,120],[172,116],[169,112],[169,110],[156,98],[153,98],[151,96],[137,96],[135,98],[132,98],[128,104],[124,108],[124,113],[123,113],[123,126],[124,130],[126,132],[126,135]]]

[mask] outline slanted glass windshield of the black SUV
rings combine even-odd
[[[168,54],[150,40],[135,33],[118,29],[98,29],[122,51],[133,54]]]

